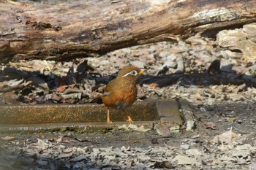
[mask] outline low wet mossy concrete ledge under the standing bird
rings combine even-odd
[[[138,126],[153,127],[165,120],[176,127],[182,122],[174,100],[135,102],[127,112]],[[0,106],[0,131],[86,131],[129,125],[124,112],[112,109],[110,113],[113,123],[107,124],[107,108],[99,104],[4,105]]]

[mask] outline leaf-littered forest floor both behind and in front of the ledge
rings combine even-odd
[[[170,136],[116,128],[0,133],[0,169],[256,169],[255,56],[223,44],[196,35],[99,58],[2,64],[4,105],[89,103],[133,64],[147,69],[138,100],[185,99],[196,127]]]

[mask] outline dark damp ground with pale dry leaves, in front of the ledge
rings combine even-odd
[[[0,169],[255,169],[254,103],[193,110],[195,131],[165,137],[118,128],[0,134]]]

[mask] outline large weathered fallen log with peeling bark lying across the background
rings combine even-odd
[[[214,36],[256,21],[256,1],[0,0],[0,58],[71,60],[133,45]]]

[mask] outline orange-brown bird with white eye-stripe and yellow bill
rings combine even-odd
[[[102,95],[102,101],[108,107],[107,123],[111,123],[110,108],[124,110],[135,102],[138,92],[136,80],[143,72],[145,72],[144,69],[139,69],[136,66],[124,66],[118,72],[116,79],[108,83]],[[127,121],[132,123],[132,118],[127,116]]]

